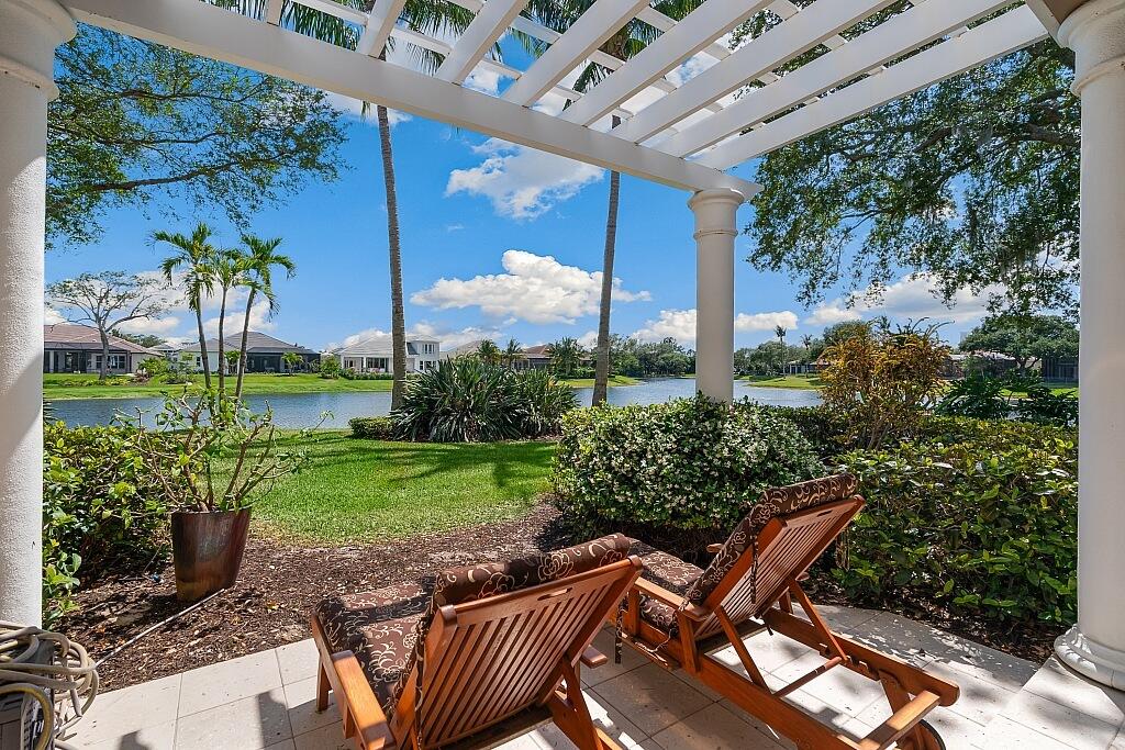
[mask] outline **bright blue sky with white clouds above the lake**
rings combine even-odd
[[[378,130],[354,114],[342,117],[349,134],[343,157],[351,169],[334,183],[308,184],[286,205],[259,214],[252,226],[260,236],[282,237],[298,266],[296,278],[276,282],[279,313],[272,319],[255,313],[254,327],[314,349],[390,327]],[[408,329],[434,335],[446,346],[483,336],[501,343],[514,337],[525,345],[561,336],[592,341],[608,173],[416,117],[395,125],[394,144]],[[739,173],[753,177],[753,165]],[[687,198],[622,178],[614,332],[673,335],[694,344],[695,250]],[[159,204],[148,216],[115,210],[96,245],[47,255],[48,282],[84,271],[152,271],[166,252],[150,244],[152,231],[188,232],[196,218],[215,226],[220,242],[237,240],[222,216],[192,215],[176,202],[169,207],[181,218],[168,218]],[[753,206],[744,207],[739,223],[752,216]],[[755,271],[744,261],[748,250],[740,236],[739,346],[773,337],[778,323],[796,342],[826,324],[880,314],[952,320],[943,334],[956,341],[982,311],[982,302],[966,295],[951,313],[929,295],[925,279],[893,284],[884,302],[868,309],[846,309],[839,299],[804,309],[785,277]],[[208,318],[214,315],[208,310]],[[163,336],[190,336],[195,329],[182,307],[134,328]]]

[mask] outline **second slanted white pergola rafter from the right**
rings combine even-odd
[[[662,141],[674,156],[694,154],[731,133],[813,99],[883,63],[922,47],[950,31],[1010,4],[1011,0],[924,2],[880,24],[849,44],[817,57],[771,85],[748,92],[724,110]]]

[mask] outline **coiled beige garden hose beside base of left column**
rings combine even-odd
[[[37,662],[44,644],[54,649],[50,663]],[[0,621],[0,696],[22,694],[43,708],[43,734],[34,750],[68,750],[66,734],[98,695],[98,671],[81,644],[61,633]],[[53,695],[53,698],[52,698]]]

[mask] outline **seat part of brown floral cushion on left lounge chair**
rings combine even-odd
[[[363,594],[332,596],[316,606],[328,648],[356,654],[388,716],[412,663],[434,585],[432,578],[396,584]]]

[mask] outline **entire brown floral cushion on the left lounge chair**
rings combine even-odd
[[[614,534],[508,562],[453,568],[435,580],[330,597],[317,605],[316,616],[333,651],[356,653],[379,705],[390,716],[415,662],[421,665],[422,647],[439,607],[558,580],[627,554],[629,540]]]

